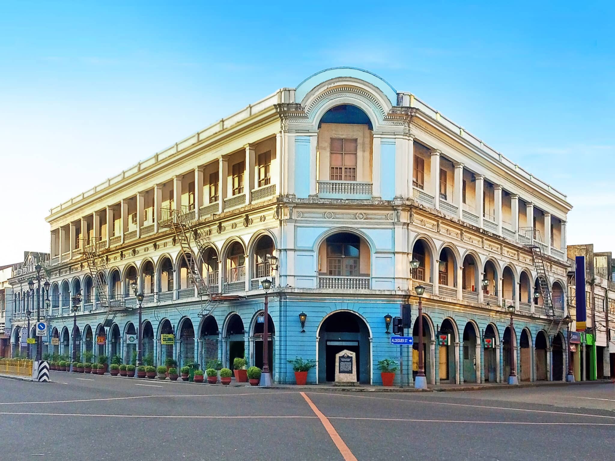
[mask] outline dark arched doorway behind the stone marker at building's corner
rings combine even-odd
[[[335,355],[347,349],[357,357],[357,380],[371,382],[370,330],[354,312],[341,310],[329,315],[316,333],[318,340],[318,380],[335,381]]]

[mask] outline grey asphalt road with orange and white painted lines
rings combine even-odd
[[[613,384],[383,394],[52,379],[0,379],[0,460],[615,459]]]

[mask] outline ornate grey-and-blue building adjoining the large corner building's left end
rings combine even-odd
[[[37,267],[41,270],[37,273]],[[48,296],[45,293],[44,285],[38,286],[38,275],[41,276],[41,283],[46,281],[45,270],[49,266],[49,253],[39,253],[38,251],[24,251],[23,261],[12,264],[8,284],[11,287],[11,294],[7,297],[10,300],[10,319],[11,331],[10,347],[11,355],[36,358],[36,344],[28,345],[28,338],[36,337],[34,329],[38,305],[40,305],[41,316],[46,313],[44,305]],[[34,286],[32,290],[28,282],[32,280]],[[39,303],[39,304],[37,304]],[[28,330],[30,324],[30,330]],[[28,331],[30,333],[28,334]],[[47,338],[42,339],[44,350],[47,349]],[[24,358],[25,358],[24,357]]]

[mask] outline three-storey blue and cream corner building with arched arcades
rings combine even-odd
[[[415,95],[326,69],[52,208],[50,344],[71,350],[81,291],[80,350],[132,360],[142,292],[157,363],[260,366],[272,277],[274,380],[294,382],[300,356],[330,381],[349,349],[379,384],[378,361],[400,355],[384,317],[410,302],[418,344],[423,285],[430,383],[503,382],[512,341],[522,380],[562,379],[570,209]]]

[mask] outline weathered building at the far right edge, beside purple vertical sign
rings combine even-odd
[[[615,376],[615,281],[611,253],[595,253],[593,245],[568,245],[568,258],[585,258],[585,306],[587,329],[574,335],[573,371],[576,380]],[[574,268],[574,266],[573,266]],[[576,280],[568,276],[568,302],[576,331]]]

